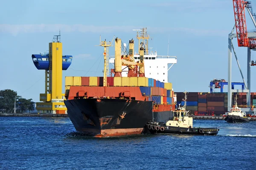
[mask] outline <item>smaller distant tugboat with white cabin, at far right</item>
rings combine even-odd
[[[237,99],[237,97],[235,98]],[[236,100],[235,100],[236,101]],[[226,114],[226,118],[224,119],[225,121],[229,123],[241,123],[241,122],[249,122],[250,120],[246,117],[246,114],[241,111],[241,109],[236,105],[233,106],[229,112]]]

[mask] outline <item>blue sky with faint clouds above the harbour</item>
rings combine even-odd
[[[252,6],[256,10],[256,1]],[[100,35],[128,44],[136,39],[132,29],[143,27],[152,39],[152,51],[177,56],[168,72],[175,92],[209,92],[213,78],[227,81],[228,34],[235,24],[232,0],[2,0],[0,16],[0,89],[13,89],[35,102],[44,93],[44,70],[36,69],[31,55],[49,50],[59,29],[63,55],[73,55],[70,68],[63,71],[63,92],[65,76],[103,76]],[[247,30],[254,30],[248,13],[246,18]],[[137,47],[137,40],[134,43]],[[247,48],[238,47],[236,38],[233,44],[247,82]],[[114,47],[109,51],[114,55]],[[251,67],[252,92],[254,72],[256,66]],[[234,55],[232,81],[242,82]]]

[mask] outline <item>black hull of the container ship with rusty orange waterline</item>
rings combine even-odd
[[[64,102],[76,130],[97,137],[141,134],[153,115],[156,121],[166,121],[172,113],[153,113],[152,101],[90,98]]]

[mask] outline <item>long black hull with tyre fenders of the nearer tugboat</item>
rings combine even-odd
[[[185,128],[185,127],[172,127],[166,125],[157,125],[154,123],[146,124],[149,133],[160,134],[184,134],[184,135],[217,135],[218,128]],[[158,127],[158,130],[157,128]]]

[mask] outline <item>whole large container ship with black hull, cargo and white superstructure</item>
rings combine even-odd
[[[108,55],[112,43],[100,41],[103,77],[65,77],[64,103],[77,131],[96,137],[141,134],[148,121],[172,118],[176,99],[168,70],[177,57],[148,52],[146,28],[137,30],[137,39],[138,53],[133,39],[126,47],[116,38],[114,57]],[[111,76],[107,76],[108,63],[114,65]],[[168,64],[172,65],[168,68]]]

